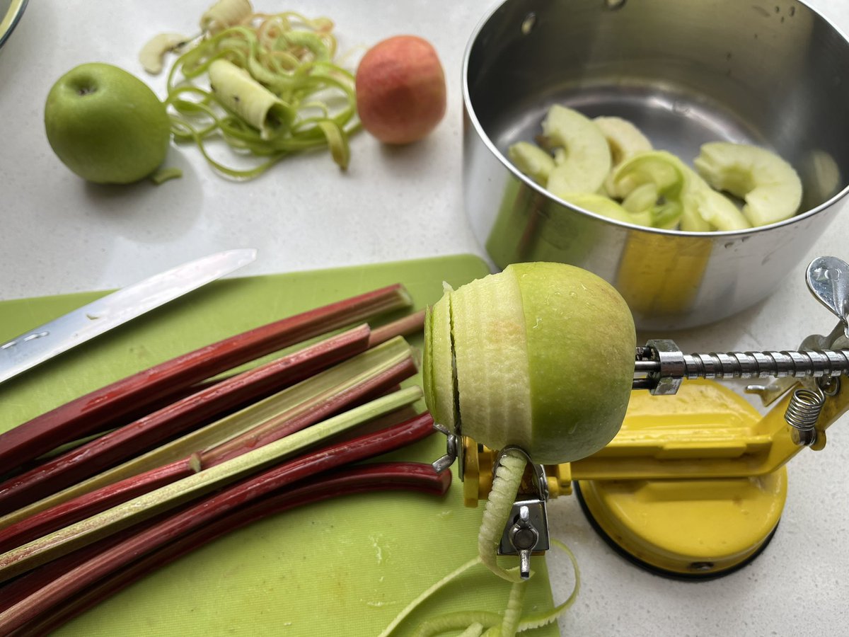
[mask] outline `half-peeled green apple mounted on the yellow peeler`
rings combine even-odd
[[[425,323],[436,422],[559,464],[599,451],[631,396],[636,334],[619,293],[581,268],[520,263],[447,290]]]

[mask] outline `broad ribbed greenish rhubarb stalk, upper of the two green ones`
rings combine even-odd
[[[144,471],[184,459],[189,454],[216,447],[270,421],[279,423],[287,418],[295,419],[409,359],[411,354],[412,349],[407,341],[401,336],[396,336],[305,381],[287,387],[273,396],[253,403],[235,414],[216,420],[171,443],[127,460],[121,465],[53,493],[31,505],[14,510],[0,517],[0,529],[10,527],[43,510],[91,493],[98,488],[104,488],[129,477],[138,476]]]

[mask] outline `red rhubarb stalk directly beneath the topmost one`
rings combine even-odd
[[[298,352],[184,397],[0,484],[0,515],[35,502],[140,454],[220,414],[302,381],[368,348],[368,325],[331,336]]]

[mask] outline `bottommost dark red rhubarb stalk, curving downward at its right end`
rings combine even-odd
[[[133,561],[129,566],[119,568],[110,575],[100,578],[97,583],[82,590],[79,595],[57,603],[48,612],[42,612],[40,617],[27,623],[24,628],[15,633],[16,637],[18,635],[20,637],[34,637],[34,635],[48,634],[73,617],[93,606],[97,606],[111,595],[125,589],[129,584],[137,582],[150,572],[176,561],[193,550],[200,549],[216,538],[232,533],[265,517],[278,515],[297,507],[312,505],[325,499],[355,493],[404,490],[444,495],[451,486],[451,472],[436,473],[431,465],[416,462],[371,463],[354,465],[323,474],[317,476],[314,481],[306,481],[306,484],[302,484],[302,482],[304,481],[299,482],[300,487],[292,488],[283,493],[270,493],[256,502],[234,510],[227,516],[222,516],[211,524],[200,527],[192,533],[183,535],[176,541],[166,544],[159,550],[144,555],[137,561]],[[9,584],[8,588],[3,590],[8,595],[8,604],[0,606],[0,611],[36,593],[38,589],[58,577],[60,573],[79,566],[91,559],[97,552],[119,544],[131,533],[138,533],[138,531],[132,529],[119,533],[113,538],[93,544],[85,550],[77,551],[61,560],[51,562]],[[14,599],[12,599],[13,595]]]

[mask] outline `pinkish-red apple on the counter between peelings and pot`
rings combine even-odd
[[[445,116],[445,73],[421,37],[390,37],[368,49],[356,89],[363,128],[385,144],[419,141]]]

